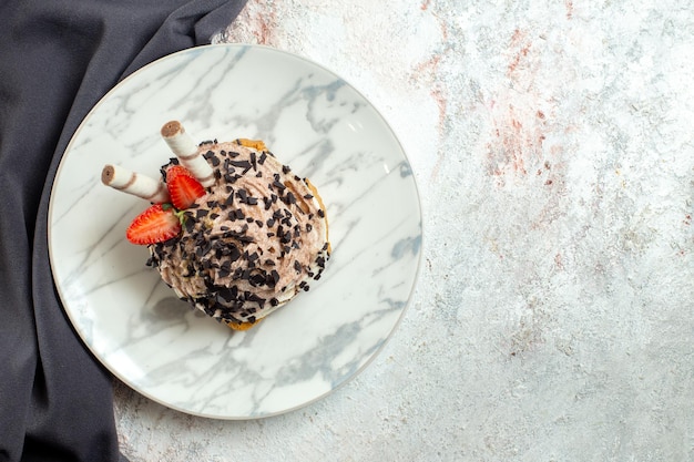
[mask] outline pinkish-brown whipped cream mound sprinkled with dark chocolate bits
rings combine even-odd
[[[205,142],[198,151],[215,182],[183,212],[180,236],[149,246],[147,264],[208,316],[255,322],[320,278],[330,253],[325,207],[262,142]]]

